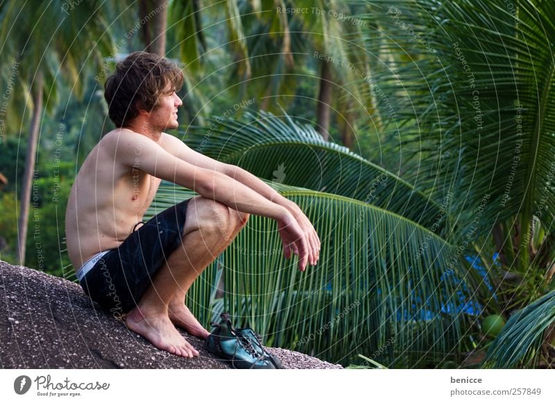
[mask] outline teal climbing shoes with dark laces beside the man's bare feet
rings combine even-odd
[[[277,357],[266,351],[260,336],[251,328],[236,329],[230,316],[221,314],[221,323],[206,339],[206,349],[238,369],[282,369]]]

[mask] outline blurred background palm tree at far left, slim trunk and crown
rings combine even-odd
[[[17,260],[22,265],[42,116],[56,104],[56,87],[60,80],[68,80],[79,94],[81,66],[85,61],[101,60],[101,51],[110,48],[110,37],[105,34],[106,25],[99,12],[100,6],[101,2],[94,0],[82,1],[71,9],[69,3],[62,1],[0,5],[0,19],[3,21],[0,44],[2,55],[6,55],[2,64],[19,66],[19,95],[10,102],[17,102],[26,96],[29,98],[17,107],[12,106],[15,113],[10,120],[17,120],[21,130],[27,126],[24,124],[27,110],[32,111],[19,213]]]

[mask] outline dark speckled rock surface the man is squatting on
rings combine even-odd
[[[81,287],[63,278],[0,261],[1,368],[230,368],[200,352],[185,359],[158,350],[99,310]],[[285,368],[341,368],[282,348],[268,348]]]

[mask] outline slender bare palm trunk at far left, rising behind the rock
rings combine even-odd
[[[17,233],[17,260],[19,265],[25,264],[25,249],[27,240],[27,225],[29,221],[29,205],[31,204],[31,187],[35,173],[37,156],[37,141],[40,129],[40,114],[42,114],[42,71],[38,71],[33,83],[33,118],[27,141],[27,155],[22,180],[21,208],[19,210],[19,231]]]

